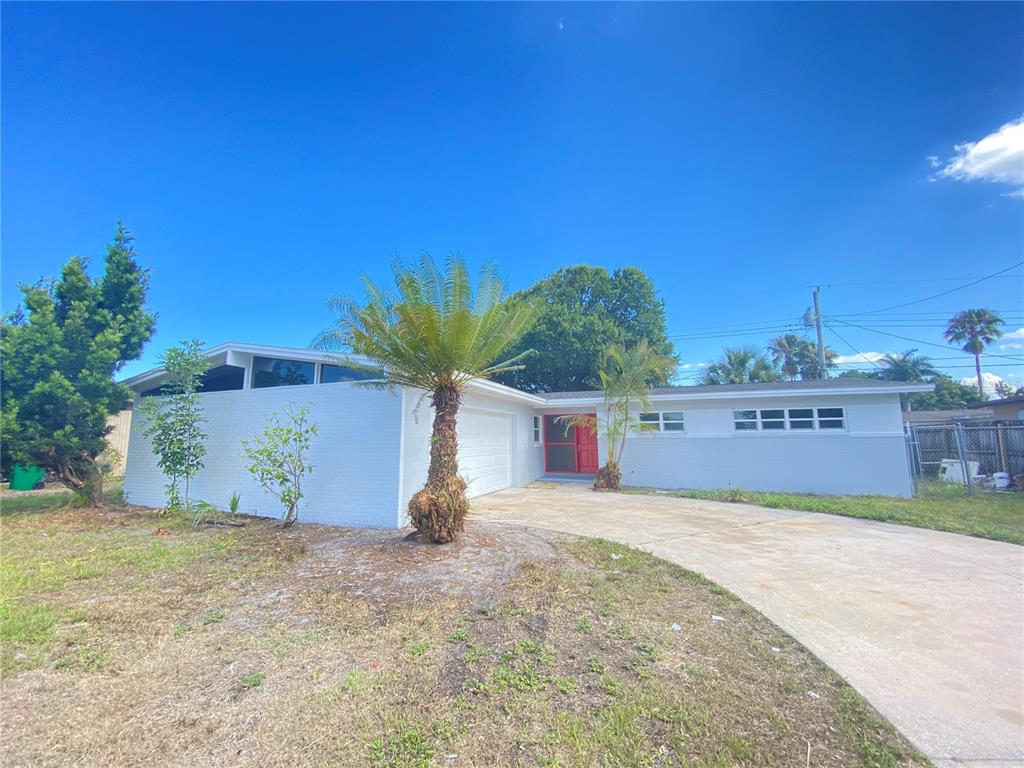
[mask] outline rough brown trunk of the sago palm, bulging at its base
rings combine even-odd
[[[430,435],[427,483],[409,502],[409,516],[418,531],[445,544],[465,528],[466,481],[459,476],[459,433],[456,417],[462,394],[440,387],[431,397],[434,424]]]

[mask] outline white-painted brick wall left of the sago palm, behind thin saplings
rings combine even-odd
[[[401,393],[352,384],[243,389],[200,395],[207,417],[206,467],[191,482],[190,496],[226,508],[232,493],[241,511],[280,517],[283,507],[246,471],[242,440],[262,432],[267,417],[295,402],[310,406],[319,427],[309,452],[313,473],[303,483],[299,519],[337,525],[395,527],[398,524],[398,472]],[[167,479],[157,468],[145,419],[132,420],[125,472],[125,497],[132,504],[162,506]],[[402,511],[403,514],[403,511]]]

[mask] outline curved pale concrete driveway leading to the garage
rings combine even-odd
[[[473,517],[631,544],[727,587],[937,766],[1024,766],[1024,548],[742,504],[546,484]]]

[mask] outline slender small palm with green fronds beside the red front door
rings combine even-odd
[[[631,347],[609,344],[601,352],[598,376],[604,392],[603,418],[587,414],[561,416],[557,421],[568,422],[578,429],[600,430],[607,440],[604,466],[597,471],[594,487],[598,490],[617,490],[623,480],[621,462],[626,450],[626,438],[657,428],[656,424],[640,421],[640,413],[650,410],[647,398],[648,383],[665,381],[675,369],[675,357],[658,354],[646,339]]]

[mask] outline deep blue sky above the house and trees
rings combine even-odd
[[[923,343],[943,318],[1024,328],[1020,266],[873,312],[1024,260],[1024,4],[2,15],[4,308],[74,254],[101,263],[124,220],[159,313],[127,373],[184,338],[305,346],[330,295],[422,251],[495,260],[513,289],[640,266],[682,382],[783,332],[816,284],[844,355],[918,346],[959,377],[966,355]],[[986,370],[1024,384],[1024,331],[1002,344],[1018,359]]]

